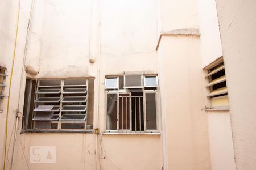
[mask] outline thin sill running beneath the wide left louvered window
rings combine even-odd
[[[88,130],[77,130],[77,129],[70,129],[70,130],[56,130],[56,129],[51,129],[51,130],[40,130],[40,129],[27,129],[27,130],[22,130],[21,134],[23,133],[93,133],[92,129]]]

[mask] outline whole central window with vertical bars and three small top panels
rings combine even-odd
[[[123,76],[117,76],[118,84],[125,84],[124,88],[119,86],[118,89],[106,89],[106,133],[159,132],[157,76],[133,75],[128,79],[127,76],[120,77]],[[147,89],[143,79],[150,84],[148,87],[152,88]]]

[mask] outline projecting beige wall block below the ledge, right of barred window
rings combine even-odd
[[[167,167],[211,169],[200,37],[162,36],[158,53]]]

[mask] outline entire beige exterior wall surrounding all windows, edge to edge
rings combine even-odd
[[[94,77],[93,126],[102,134],[106,127],[105,75],[124,72],[159,74],[160,135],[99,135],[99,155],[106,158],[99,159],[89,153],[96,149],[95,134],[20,134],[19,118],[13,169],[95,169],[97,159],[97,169],[220,170],[235,169],[234,155],[237,169],[255,169],[256,143],[251,130],[255,129],[256,101],[256,37],[255,22],[251,22],[255,3],[216,2],[217,11],[213,0],[21,1],[6,169],[10,169],[15,114],[23,111],[26,76]],[[0,23],[4,25],[0,27],[0,65],[9,75],[6,96],[17,16],[18,1],[0,2]],[[206,112],[209,101],[203,69],[221,57],[222,51],[230,112]],[[5,143],[7,97],[1,101],[1,109],[0,143]],[[57,162],[30,163],[30,146],[56,146]],[[0,145],[0,150],[2,165],[5,146]]]

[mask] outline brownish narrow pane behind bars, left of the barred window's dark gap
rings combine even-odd
[[[119,94],[119,129],[130,129],[130,96]]]

